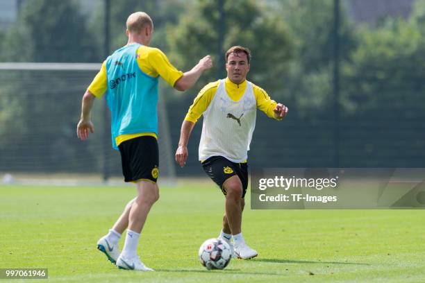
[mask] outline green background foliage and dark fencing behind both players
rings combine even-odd
[[[383,17],[370,25],[354,22],[346,2],[341,3],[338,120],[333,98],[332,0],[225,0],[223,22],[219,22],[218,0],[111,1],[110,52],[126,44],[126,17],[144,10],[155,23],[151,45],[165,51],[178,69],[188,71],[204,55],[213,55],[215,66],[190,91],[181,94],[165,83],[160,85],[173,146],[185,112],[199,89],[226,76],[220,56],[230,46],[240,44],[248,46],[253,54],[249,80],[290,108],[282,123],[259,115],[250,153],[253,163],[335,166],[338,154],[340,166],[424,166],[424,1],[416,1],[407,18]],[[17,22],[0,35],[0,60],[102,62],[106,58],[103,1],[98,1],[92,11],[79,7],[77,1],[24,1]],[[221,47],[220,25],[224,26]],[[56,147],[67,148],[66,158],[72,160],[74,153],[81,150],[81,145],[73,141],[74,123],[81,95],[93,74],[81,80],[84,83],[74,83],[80,88],[63,92],[72,97],[67,105],[58,103],[60,94],[54,89],[66,87],[69,79],[57,78],[51,85],[31,88],[16,82],[34,80],[37,85],[44,80],[30,73],[19,75],[22,78],[16,76],[9,74],[0,85],[0,123],[8,126],[0,128],[1,151],[15,148],[24,158],[22,144],[12,140],[37,134],[40,143],[45,137],[44,143],[50,144],[50,137],[65,132],[65,138],[58,137],[61,141]],[[43,117],[47,109],[53,112],[50,117],[60,118],[40,129],[40,125],[49,123],[49,117]],[[102,125],[103,121],[97,123]],[[179,173],[201,173],[195,157],[199,131],[197,126],[190,142],[193,155],[188,161],[189,169]],[[40,155],[50,149],[40,149]],[[33,150],[28,148],[28,152]],[[89,149],[87,152],[90,155]],[[99,171],[99,154],[91,157],[97,161],[90,168]],[[78,160],[73,162],[78,164]],[[58,168],[57,164],[54,168]]]

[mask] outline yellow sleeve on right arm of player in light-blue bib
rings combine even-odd
[[[169,85],[174,87],[176,80],[183,76],[168,60],[167,56],[158,48],[140,46],[138,49],[138,65],[149,76],[161,76]]]

